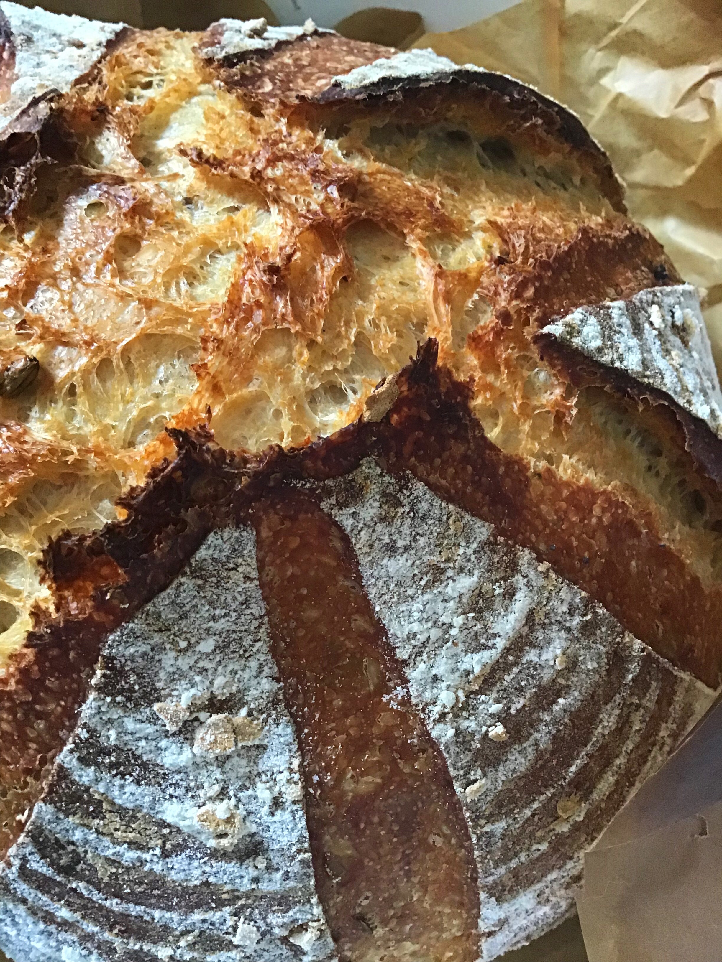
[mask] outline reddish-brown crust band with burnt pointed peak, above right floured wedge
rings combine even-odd
[[[722,591],[704,585],[665,544],[642,503],[588,482],[529,469],[491,443],[465,411],[466,392],[435,367],[435,346],[398,381],[383,440],[389,467],[410,470],[442,497],[599,600],[637,638],[716,688],[722,675]],[[674,433],[675,424],[671,425]],[[683,447],[682,428],[677,425]],[[651,576],[651,572],[654,572]]]

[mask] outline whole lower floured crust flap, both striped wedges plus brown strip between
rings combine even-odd
[[[332,958],[316,892],[339,958],[493,959],[709,706],[408,475],[302,487],[254,506],[258,570],[217,531],[105,646],[0,873],[16,959]]]

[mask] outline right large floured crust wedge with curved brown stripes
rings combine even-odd
[[[366,461],[325,490],[449,765],[496,958],[573,909],[585,848],[712,693],[421,483]]]

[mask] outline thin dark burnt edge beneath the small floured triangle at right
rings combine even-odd
[[[695,418],[669,394],[649,387],[617,367],[607,367],[586,357],[581,351],[562,344],[544,331],[534,337],[540,356],[576,388],[597,385],[617,397],[630,398],[640,406],[661,406],[677,421],[682,432],[679,443],[692,456],[695,465],[722,490],[722,439],[701,418]],[[679,432],[678,432],[679,434]]]

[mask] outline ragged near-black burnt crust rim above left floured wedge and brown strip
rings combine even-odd
[[[178,538],[245,519],[251,502],[289,477],[325,480],[347,473],[368,449],[369,427],[356,421],[330,438],[288,450],[273,445],[255,458],[225,451],[203,425],[191,431],[168,428],[176,456],[118,499],[125,519],[87,535],[68,532],[48,544],[42,567],[56,606],[70,613],[78,598],[87,598],[92,608],[106,600],[125,607],[128,599],[137,610],[168,584],[166,575],[157,573],[159,559],[174,573],[185,564],[188,553]],[[120,573],[99,581],[103,563]],[[112,589],[114,581],[118,587]],[[145,595],[140,601],[139,592]]]

